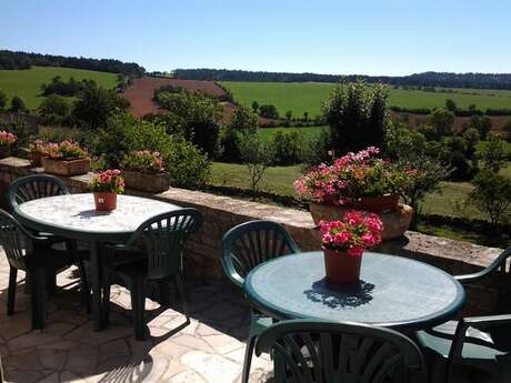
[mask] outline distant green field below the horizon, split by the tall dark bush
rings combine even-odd
[[[333,83],[281,83],[281,82],[236,82],[221,81],[220,84],[229,89],[237,102],[251,105],[271,103],[279,113],[284,115],[288,110],[294,117],[320,114],[321,105],[332,91]],[[402,90],[389,88],[389,103],[401,108],[435,108],[443,107],[447,99],[452,99],[461,109],[475,104],[480,109],[511,109],[511,91],[492,89],[455,89],[454,93],[425,92],[419,90]],[[478,94],[469,94],[477,92]]]

